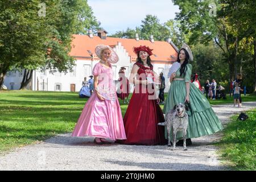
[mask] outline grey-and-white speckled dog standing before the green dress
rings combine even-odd
[[[167,127],[168,134],[168,147],[171,147],[170,141],[170,133],[172,129],[172,138],[173,138],[173,148],[171,150],[176,149],[176,135],[177,131],[183,131],[183,150],[187,150],[186,146],[186,135],[187,135],[187,127],[188,127],[188,107],[184,104],[177,104],[174,106],[174,109],[168,111],[165,116],[165,122],[159,123],[161,126]]]

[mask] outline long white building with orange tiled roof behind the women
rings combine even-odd
[[[131,68],[137,60],[137,55],[133,52],[133,47],[142,45],[153,49],[153,55],[150,57],[154,71],[158,74],[163,72],[165,78],[167,78],[172,63],[177,59],[178,49],[170,39],[166,42],[154,41],[152,36],[150,40],[139,40],[138,37],[134,39],[122,39],[111,38],[106,36],[106,34],[106,31],[98,31],[97,36],[93,36],[92,34],[73,35],[72,48],[69,53],[69,55],[76,59],[76,66],[73,68],[73,72],[67,74],[57,72],[52,74],[48,71],[40,72],[37,70],[34,72],[29,86],[30,89],[78,92],[82,86],[84,77],[89,79],[89,76],[92,75],[94,65],[100,61],[94,52],[94,49],[98,44],[108,45],[117,52],[119,61],[112,64],[114,80],[118,79],[118,72],[121,67],[126,68],[126,76],[129,77]],[[20,76],[20,73],[8,74],[4,84],[9,89],[19,89],[22,77],[23,76],[22,74]],[[166,92],[168,92],[169,86],[169,81],[166,79]]]

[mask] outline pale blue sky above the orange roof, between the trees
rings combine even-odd
[[[171,0],[88,0],[88,5],[109,35],[140,26],[147,14],[158,16],[164,23],[179,12]]]

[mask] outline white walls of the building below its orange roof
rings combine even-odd
[[[121,67],[126,68],[126,77],[129,77],[131,68],[135,63],[134,57],[132,58],[129,55],[129,52],[124,46],[122,46],[121,42],[117,42],[117,44],[112,47],[114,51],[117,52],[119,57],[119,61],[115,64],[112,64],[114,80],[118,80],[118,72]],[[27,89],[37,91],[79,92],[82,87],[82,81],[84,81],[84,77],[89,80],[89,76],[92,75],[94,65],[100,60],[96,55],[93,54],[90,57],[74,57],[76,59],[76,65],[73,67],[73,72],[68,72],[65,74],[60,72],[50,73],[48,70],[43,72],[36,70],[33,72],[32,80],[30,84],[28,84]],[[172,62],[162,62],[163,63],[161,63],[161,61],[153,60],[152,65],[156,73],[160,74],[160,72],[163,72],[163,76],[166,78],[166,89],[164,92],[168,92],[170,83],[168,81],[167,75]],[[11,71],[7,73],[3,84],[6,85],[10,90],[18,90],[20,88],[22,79],[23,72]],[[133,89],[132,85],[131,89]],[[133,90],[131,90],[131,92],[133,92]]]

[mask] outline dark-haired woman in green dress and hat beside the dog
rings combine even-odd
[[[192,144],[190,138],[210,135],[223,129],[220,120],[214,113],[212,107],[210,107],[207,98],[191,83],[192,65],[188,64],[189,60],[193,60],[191,49],[186,44],[183,44],[177,57],[180,68],[171,74],[171,86],[163,109],[163,113],[167,114],[176,104],[184,104],[185,101],[189,102],[191,108],[188,111],[188,145]],[[182,132],[178,132],[176,138],[183,138]],[[183,145],[183,140],[179,140],[177,145],[180,144]]]

